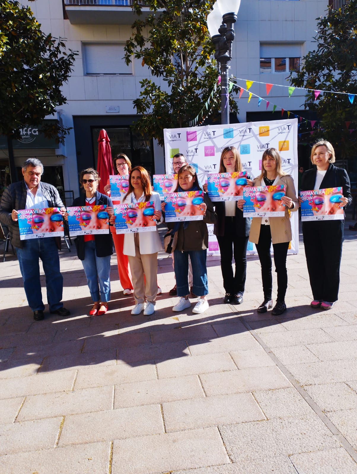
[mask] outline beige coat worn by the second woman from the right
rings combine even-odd
[[[290,175],[280,176],[279,180],[274,183],[282,184],[286,186],[286,195],[294,202],[294,207],[290,211],[296,211],[299,209],[298,198],[296,197],[294,181]],[[259,178],[255,178],[253,186],[261,186]],[[291,241],[291,224],[289,211],[285,208],[284,217],[271,217],[269,218],[270,231],[272,233],[272,243],[281,244],[282,242]],[[261,217],[254,217],[252,219],[252,226],[250,228],[249,241],[257,244],[259,241],[260,226],[262,223]]]

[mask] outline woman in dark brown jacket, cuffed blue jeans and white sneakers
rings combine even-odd
[[[198,184],[195,168],[185,164],[179,169],[178,184],[175,192],[202,191]],[[188,255],[192,263],[193,288],[192,292],[198,296],[198,301],[193,308],[194,313],[203,313],[208,309],[208,279],[207,279],[207,248],[208,230],[207,224],[215,224],[217,215],[208,195],[204,193],[203,199],[188,198],[182,202],[181,215],[195,215],[195,208],[204,209],[203,220],[192,220],[188,222],[169,222],[168,228],[178,233],[177,244],[174,250],[174,270],[179,301],[172,308],[173,311],[185,310],[191,306],[188,299]],[[187,209],[186,209],[187,208]]]

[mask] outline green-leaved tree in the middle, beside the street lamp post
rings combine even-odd
[[[141,1],[133,11],[141,15]],[[125,45],[125,61],[141,59],[151,76],[141,83],[140,97],[134,100],[142,117],[134,127],[164,143],[163,129],[188,127],[199,117],[218,118],[220,86],[214,59],[214,46],[207,30],[207,14],[214,0],[146,0],[151,10],[145,19],[132,25],[132,37]],[[162,86],[161,84],[164,84]],[[234,86],[233,92],[237,89]],[[213,93],[212,93],[213,92]],[[237,105],[230,100],[231,111]]]

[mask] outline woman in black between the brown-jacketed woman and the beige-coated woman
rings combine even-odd
[[[226,146],[221,154],[219,173],[243,171],[240,155],[235,146]],[[247,174],[247,185],[252,186],[252,177]],[[239,202],[239,201],[238,201]],[[237,201],[216,202],[217,221],[213,233],[217,237],[221,254],[221,271],[225,288],[225,303],[241,304],[247,269],[247,245],[250,219],[243,217]],[[235,259],[233,274],[232,259]]]

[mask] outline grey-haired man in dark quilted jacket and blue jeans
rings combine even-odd
[[[55,237],[40,237],[20,240],[18,211],[58,207],[64,214],[66,209],[58,191],[51,184],[41,182],[43,165],[37,158],[28,158],[23,167],[24,179],[10,184],[4,191],[0,203],[0,220],[9,227],[11,244],[16,248],[20,271],[28,306],[34,319],[44,319],[45,306],[42,302],[39,258],[46,275],[46,290],[49,310],[52,314],[67,316],[63,307],[63,277],[59,270],[58,248]]]

